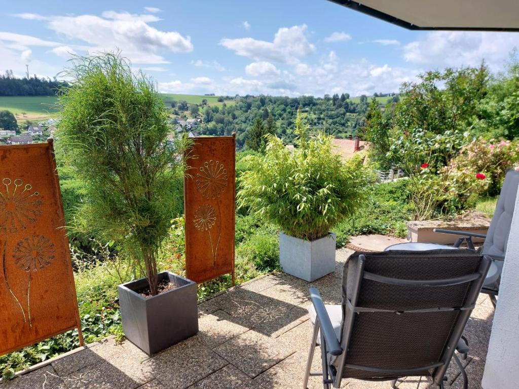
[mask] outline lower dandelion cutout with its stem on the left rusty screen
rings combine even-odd
[[[24,309],[21,307],[21,304],[18,304],[22,309],[24,321],[28,321],[29,326],[32,327],[31,282],[33,280],[33,276],[37,271],[43,270],[52,263],[55,257],[54,254],[56,254],[56,249],[54,249],[54,244],[50,241],[50,239],[44,237],[43,235],[32,235],[32,237],[24,238],[22,241],[18,242],[13,252],[14,254],[12,255],[12,257],[15,259],[15,265],[18,266],[19,269],[29,273],[26,295],[26,316]],[[11,294],[13,294],[12,291]],[[16,298],[16,296],[15,299],[19,301],[18,298]]]

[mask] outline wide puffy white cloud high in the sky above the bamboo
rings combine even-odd
[[[254,38],[224,38],[220,44],[238,55],[256,61],[294,63],[298,58],[306,57],[316,50],[316,47],[308,41],[306,30],[305,24],[282,27],[271,42]]]

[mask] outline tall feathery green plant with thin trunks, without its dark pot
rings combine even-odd
[[[59,97],[59,143],[85,183],[86,200],[69,227],[117,242],[121,254],[139,262],[156,295],[157,252],[182,202],[176,183],[192,141],[168,140],[169,114],[156,84],[119,54],[70,63],[65,75],[71,81]]]

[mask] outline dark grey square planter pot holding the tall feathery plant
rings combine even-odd
[[[158,280],[169,280],[177,287],[149,298],[136,293],[148,286],[145,278],[117,287],[122,330],[148,355],[198,332],[196,283],[169,271],[159,273]]]

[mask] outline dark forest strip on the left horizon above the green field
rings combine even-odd
[[[36,75],[30,78],[16,78],[12,71],[8,70],[0,76],[0,96],[53,96],[64,85],[63,81],[56,78],[38,78]]]

